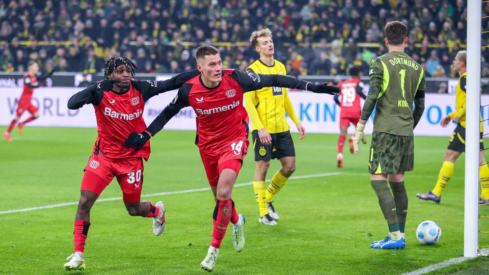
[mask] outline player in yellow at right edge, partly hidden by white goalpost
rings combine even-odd
[[[443,157],[442,169],[438,174],[437,184],[433,190],[425,194],[416,195],[418,198],[427,201],[440,203],[443,189],[453,175],[454,162],[465,152],[465,108],[466,108],[466,84],[467,84],[467,51],[461,50],[453,60],[453,67],[458,72],[458,85],[455,93],[456,110],[448,114],[440,123],[442,127],[447,127],[451,120],[457,123],[457,127],[448,141],[448,149]],[[475,91],[474,91],[475,92]],[[482,118],[481,118],[482,119]],[[479,152],[479,177],[481,195],[479,204],[489,204],[489,168],[485,162],[484,145],[482,144],[482,132],[484,127],[480,123],[480,152]]]

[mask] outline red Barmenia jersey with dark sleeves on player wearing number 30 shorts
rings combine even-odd
[[[68,108],[77,109],[85,104],[93,104],[97,119],[97,140],[93,153],[105,158],[143,157],[148,160],[150,143],[134,152],[126,149],[124,143],[134,132],[146,129],[143,119],[144,105],[151,97],[178,89],[192,77],[200,74],[198,70],[181,73],[165,81],[131,79],[127,92],[97,91],[97,84],[74,94],[68,101]]]

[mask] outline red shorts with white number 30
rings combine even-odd
[[[110,160],[92,154],[84,171],[96,174],[100,180],[94,180],[94,177],[90,175],[91,173],[85,173],[80,189],[93,191],[100,195],[103,189],[116,177],[121,186],[123,200],[128,203],[140,201],[144,171],[141,157]]]

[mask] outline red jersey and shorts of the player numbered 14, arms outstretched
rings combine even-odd
[[[223,79],[214,88],[205,87],[201,76],[182,85],[177,96],[147,130],[155,135],[180,109],[191,106],[197,115],[195,143],[211,186],[218,184],[219,175],[228,168],[239,173],[232,161],[242,160],[248,151],[248,113],[243,106],[243,93],[263,87],[306,89],[306,81],[283,75],[263,75],[225,69]]]

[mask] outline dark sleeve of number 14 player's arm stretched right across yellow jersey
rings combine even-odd
[[[307,81],[280,74],[245,73],[234,70],[230,75],[243,92],[260,90],[264,87],[284,87],[306,90]]]

